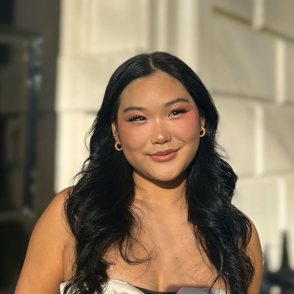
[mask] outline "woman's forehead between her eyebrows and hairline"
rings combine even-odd
[[[181,81],[164,72],[156,72],[129,83],[120,95],[120,107],[135,103],[162,104],[179,97],[193,101]]]

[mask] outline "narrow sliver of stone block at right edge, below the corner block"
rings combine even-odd
[[[294,44],[286,43],[286,101],[294,103]]]

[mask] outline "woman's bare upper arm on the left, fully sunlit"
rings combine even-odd
[[[63,252],[70,236],[63,213],[68,191],[59,192],[36,223],[15,294],[60,293]]]

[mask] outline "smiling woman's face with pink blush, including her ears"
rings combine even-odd
[[[172,181],[199,146],[204,119],[183,84],[158,72],[132,81],[121,93],[114,138],[138,176]]]

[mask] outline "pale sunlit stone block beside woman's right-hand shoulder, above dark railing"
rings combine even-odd
[[[239,178],[233,203],[255,224],[262,248],[269,251],[270,268],[280,262],[279,188],[275,178]]]

